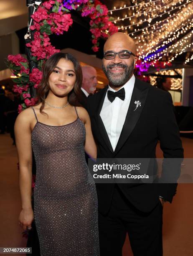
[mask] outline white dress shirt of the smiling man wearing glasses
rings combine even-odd
[[[110,100],[107,97],[107,94],[105,95],[105,98],[104,98],[104,103],[102,106],[100,116],[102,118],[104,127],[109,136],[109,140],[111,142],[113,150],[115,150],[117,146],[117,142],[119,140],[119,136],[121,134],[121,131],[124,125],[124,121],[130,105],[130,101],[131,101],[134,83],[135,83],[135,76],[132,75],[130,80],[120,88],[120,89],[124,88],[125,90],[124,100],[121,100],[119,99],[119,97],[116,97],[113,102],[110,102]],[[116,92],[110,86],[108,90],[112,92]]]

